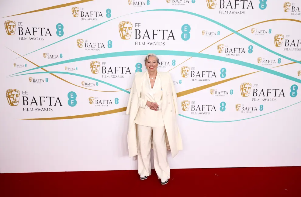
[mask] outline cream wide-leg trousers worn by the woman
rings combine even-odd
[[[138,124],[137,130],[138,174],[141,177],[151,175],[151,135],[153,133],[155,171],[158,179],[164,181],[169,179],[170,168],[167,161],[165,127],[147,127]]]

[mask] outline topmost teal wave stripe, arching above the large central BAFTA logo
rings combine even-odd
[[[293,62],[296,62],[296,63],[300,63],[300,64],[301,64],[301,62],[299,62],[298,60],[295,60],[295,59],[292,59],[292,58],[290,58],[290,57],[281,55],[280,53],[277,53],[277,52],[275,52],[275,51],[273,51],[273,50],[271,50],[271,49],[268,49],[267,47],[265,47],[265,46],[263,46],[263,45],[261,45],[261,44],[255,42],[255,41],[252,40],[252,39],[249,39],[248,37],[242,35],[241,33],[237,32],[237,31],[235,31],[234,29],[231,29],[230,27],[228,27],[228,26],[226,26],[226,25],[223,25],[222,23],[217,22],[217,21],[215,21],[215,20],[213,20],[213,19],[210,19],[210,18],[208,18],[208,17],[206,17],[206,16],[199,15],[199,14],[196,14],[196,13],[194,13],[194,12],[189,12],[189,11],[185,11],[185,10],[178,10],[178,9],[153,9],[153,10],[145,10],[145,11],[140,11],[140,12],[152,12],[152,11],[182,12],[182,13],[185,13],[185,14],[190,14],[190,15],[194,15],[194,16],[200,17],[200,18],[202,18],[202,19],[206,19],[206,20],[208,20],[208,21],[210,21],[210,22],[213,22],[213,23],[215,23],[215,24],[217,24],[217,25],[220,25],[221,27],[223,27],[223,28],[225,28],[225,29],[230,30],[231,32],[237,34],[238,36],[240,36],[240,37],[242,37],[242,38],[248,40],[249,42],[254,43],[255,45],[257,45],[257,46],[259,46],[259,47],[261,47],[261,48],[263,48],[263,49],[265,49],[265,50],[267,50],[267,51],[269,51],[269,52],[271,52],[271,53],[274,53],[275,55],[278,55],[278,56],[283,57],[283,58],[285,58],[285,59],[289,59],[289,60],[291,60],[291,61],[293,61]],[[136,13],[140,13],[140,12],[133,12],[133,13],[126,14],[126,15],[136,14]],[[122,16],[126,16],[126,15],[122,15]],[[90,29],[93,29],[93,28],[95,28],[95,27],[97,27],[97,26],[99,26],[99,25],[102,25],[102,24],[104,24],[104,23],[106,23],[106,22],[109,22],[109,21],[111,21],[111,20],[120,18],[120,17],[122,17],[122,16],[118,16],[118,17],[116,17],[116,18],[113,18],[113,19],[107,20],[107,21],[105,21],[105,22],[99,23],[99,24],[97,24],[97,25],[94,25],[94,26],[92,26],[92,27],[90,27],[90,28],[88,28],[88,29],[85,29],[85,30],[83,30],[83,31],[81,31],[81,32],[78,32],[78,33],[76,33],[76,34],[74,34],[74,35],[71,35],[71,36],[69,36],[69,37],[67,37],[67,38],[61,39],[61,40],[59,40],[59,41],[57,41],[57,42],[54,42],[54,43],[52,43],[52,44],[50,44],[50,45],[44,46],[44,47],[42,47],[42,48],[40,48],[40,49],[44,49],[44,48],[46,48],[46,47],[48,47],[48,46],[54,45],[54,44],[56,44],[56,43],[58,43],[58,42],[61,42],[61,41],[65,40],[65,39],[68,39],[68,38],[71,38],[71,37],[73,37],[73,36],[76,36],[76,35],[78,35],[78,34],[80,34],[80,33],[86,32],[86,31],[88,31],[88,30],[90,30]],[[37,49],[37,50],[35,50],[35,51],[33,51],[33,52],[36,52],[36,51],[38,51],[38,50],[40,50],[40,49]],[[33,52],[30,52],[30,53],[33,53]],[[25,54],[25,55],[23,55],[23,56],[26,56],[26,55],[28,55],[28,54],[30,54],[30,53],[27,53],[27,54]],[[18,57],[18,58],[20,58],[20,57]],[[18,58],[16,58],[16,59],[18,59]]]

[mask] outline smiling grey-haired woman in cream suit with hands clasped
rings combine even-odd
[[[151,175],[153,149],[154,168],[165,185],[170,178],[167,150],[175,157],[182,150],[182,138],[176,119],[177,93],[170,74],[157,71],[158,62],[155,54],[148,54],[144,59],[147,71],[135,73],[126,108],[130,115],[127,139],[129,156],[138,156],[140,179]]]

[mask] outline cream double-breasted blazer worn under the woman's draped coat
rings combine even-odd
[[[158,110],[151,110],[146,105],[147,100],[152,103],[157,103],[159,105]],[[151,88],[148,72],[144,75],[139,98],[139,109],[135,117],[135,123],[148,127],[164,126],[162,114],[162,83],[158,73],[155,78],[153,89]]]

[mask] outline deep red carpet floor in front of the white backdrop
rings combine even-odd
[[[300,197],[301,167],[172,169],[167,185],[136,170],[0,174],[0,196]]]

